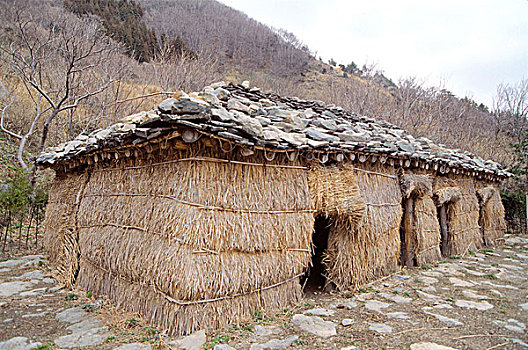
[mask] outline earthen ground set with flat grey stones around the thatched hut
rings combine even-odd
[[[527,323],[527,236],[179,339],[89,292],[62,289],[44,255],[0,259],[0,350],[525,349]]]

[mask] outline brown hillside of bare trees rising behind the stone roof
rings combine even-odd
[[[73,114],[60,113],[47,140],[49,145],[71,139],[83,130],[107,126],[123,115],[152,108],[163,98],[152,95],[148,99],[135,99],[137,96],[179,89],[196,91],[218,80],[249,80],[251,85],[267,91],[322,100],[360,114],[388,120],[409,130],[411,134],[426,136],[435,142],[468,150],[483,158],[503,163],[511,160],[511,137],[485,106],[478,106],[467,98],[456,97],[441,87],[426,87],[413,77],[394,84],[383,75],[383,71],[375,67],[345,72],[345,65],[330,66],[317,60],[310,49],[293,34],[272,29],[215,0],[131,2],[140,6],[140,13],[134,17],[140,23],[130,23],[142,28],[142,32],[150,33],[151,45],[159,46],[161,41],[177,41],[184,43],[194,55],[152,54],[148,56],[148,60],[144,55],[136,55],[138,51],[131,51],[128,46],[131,36],[125,34],[132,29],[126,27],[128,20],[118,24],[109,22],[105,17],[108,15],[103,15],[101,8],[88,14],[84,14],[84,10],[76,10],[74,15],[64,7],[62,0],[26,0],[25,3],[29,4],[27,13],[39,23],[39,31],[48,30],[46,25],[56,21],[55,17],[67,17],[72,23],[70,26],[76,27],[78,32],[93,32],[89,28],[94,26],[95,20],[102,29],[106,28],[107,35],[115,39],[110,39],[105,44],[114,47],[111,57],[107,55],[104,59],[98,59],[94,67],[89,66],[91,69],[96,68],[97,74],[84,75],[84,71],[79,71],[75,79],[81,83],[76,88],[86,89],[86,83],[82,79],[109,77],[110,73],[116,73],[114,78],[118,78],[119,83],[105,88],[104,94],[96,94],[90,100],[80,103],[72,111]],[[66,2],[70,9],[74,3],[86,5],[97,1]],[[136,5],[132,8],[134,6]],[[9,18],[9,11],[4,12],[4,26],[9,26],[12,18]],[[124,36],[111,34],[109,26],[117,26],[118,32],[125,33]],[[156,38],[152,37],[152,33],[156,33]],[[53,33],[50,32],[50,35]],[[9,40],[16,42],[19,39]],[[147,52],[148,49],[143,46],[141,45],[141,50]],[[152,50],[155,52],[154,48]],[[57,67],[57,62],[61,60],[64,57],[58,59],[50,56],[46,64],[40,66],[40,69],[49,74],[46,84],[49,83],[52,91],[61,91],[63,88],[55,86],[58,81],[65,79],[61,76],[64,71]],[[0,65],[0,70],[7,72],[10,69],[5,63]],[[50,74],[51,71],[53,74]],[[90,83],[100,84],[101,79]],[[96,90],[97,85],[93,86]],[[34,91],[26,91],[26,95],[32,93]],[[71,96],[68,99],[73,100]],[[20,99],[18,105],[15,103],[16,113],[24,110],[21,101],[27,100],[26,96]],[[20,114],[19,118],[28,116]],[[12,119],[17,119],[17,115],[12,115]],[[29,125],[29,121],[26,125]],[[19,130],[24,128],[19,124],[16,127]],[[31,147],[34,145],[34,142],[30,142]]]

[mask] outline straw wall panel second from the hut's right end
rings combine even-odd
[[[434,183],[434,194],[437,205],[442,204],[438,198],[447,198],[448,239],[445,245],[446,255],[460,255],[469,249],[482,247],[482,234],[479,222],[479,203],[475,182],[466,177],[437,176]]]

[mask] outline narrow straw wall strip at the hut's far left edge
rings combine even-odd
[[[49,192],[44,246],[56,266],[55,278],[71,287],[79,270],[77,210],[89,175],[58,173]]]

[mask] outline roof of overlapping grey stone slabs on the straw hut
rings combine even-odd
[[[181,126],[271,150],[337,152],[350,157],[376,155],[400,163],[414,162],[442,173],[510,176],[496,162],[449,149],[427,138],[414,138],[385,121],[321,101],[283,97],[223,82],[206,86],[198,93],[181,93],[161,102],[158,110],[134,114],[107,129],[79,135],[48,149],[36,162],[50,167],[102,149],[144,143]]]

